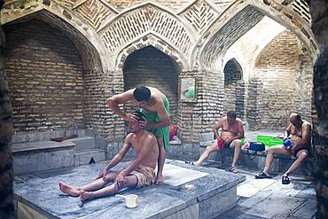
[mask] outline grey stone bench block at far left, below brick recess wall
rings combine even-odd
[[[74,143],[38,141],[12,144],[15,174],[74,166]]]

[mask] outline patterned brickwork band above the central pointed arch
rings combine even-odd
[[[98,28],[106,50],[115,57],[123,48],[144,35],[156,35],[184,57],[195,42],[190,27],[168,9],[151,2],[137,4]]]

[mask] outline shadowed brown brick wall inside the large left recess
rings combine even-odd
[[[83,67],[74,44],[40,20],[4,32],[14,131],[83,128]]]

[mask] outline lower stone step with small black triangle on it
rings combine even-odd
[[[92,162],[98,163],[103,160],[105,160],[105,151],[96,148],[75,151],[74,154],[74,166],[80,166]]]

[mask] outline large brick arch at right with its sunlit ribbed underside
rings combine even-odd
[[[308,22],[302,20],[301,16],[290,8],[273,1],[268,0],[267,2],[268,4],[264,4],[262,1],[237,1],[232,4],[223,13],[230,14],[226,17],[226,21],[215,22],[200,37],[191,52],[194,54],[191,57],[191,61],[193,61],[191,66],[200,66],[203,70],[221,72],[222,58],[230,45],[262,20],[264,15],[291,29],[315,59],[317,46]],[[199,46],[200,49],[198,49]]]

